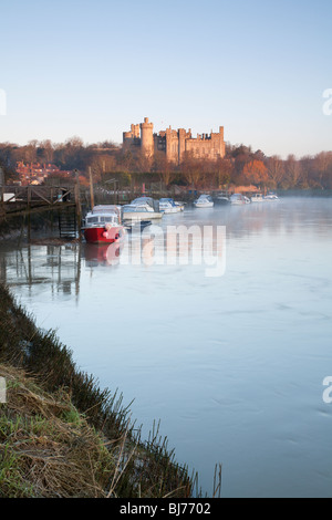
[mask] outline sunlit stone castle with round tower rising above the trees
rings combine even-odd
[[[154,125],[144,118],[139,125],[131,125],[129,132],[123,133],[124,148],[141,150],[146,157],[153,157],[156,152],[166,154],[167,160],[180,164],[185,154],[195,158],[217,160],[225,157],[224,126],[219,126],[219,133],[197,134],[191,136],[191,131],[184,128],[177,131],[170,126],[166,131],[154,134]]]

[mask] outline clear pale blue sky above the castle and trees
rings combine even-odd
[[[122,142],[145,116],[269,155],[332,149],[331,0],[1,0],[0,142]]]

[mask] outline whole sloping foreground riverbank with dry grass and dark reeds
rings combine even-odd
[[[101,389],[70,350],[0,284],[0,497],[188,498],[197,476],[158,428],[141,438],[117,392]]]

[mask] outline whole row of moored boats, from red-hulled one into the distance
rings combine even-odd
[[[219,194],[217,204],[245,205],[251,202],[263,202],[267,200],[278,200],[276,194],[255,194],[251,198],[242,194],[227,196]],[[194,201],[196,208],[211,208],[215,201],[210,195],[200,195]],[[90,243],[113,243],[121,241],[126,232],[135,229],[143,229],[152,221],[162,219],[165,214],[177,214],[184,211],[185,202],[177,202],[173,198],[162,198],[155,200],[152,197],[138,197],[125,206],[100,205],[94,206],[87,212],[82,231],[86,242]]]

